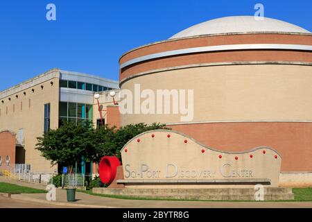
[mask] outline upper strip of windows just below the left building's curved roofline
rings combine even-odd
[[[93,92],[102,92],[102,91],[112,89],[110,87],[105,87],[102,85],[96,85],[96,84],[91,84],[91,83],[81,83],[81,82],[76,82],[76,81],[71,81],[71,80],[60,80],[60,87],[70,88],[70,89],[83,89],[83,90],[88,90],[88,91],[93,91]]]

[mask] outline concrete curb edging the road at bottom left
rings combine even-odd
[[[58,201],[48,201],[48,200],[40,200],[36,198],[31,198],[27,196],[19,196],[20,194],[13,194],[11,196],[12,199],[15,200],[24,200],[29,202],[35,202],[35,203],[44,203],[47,205],[58,205],[58,206],[64,206],[64,207],[81,207],[81,208],[116,208],[106,205],[86,205],[86,204],[79,204],[79,203],[65,203],[65,202],[58,202]]]

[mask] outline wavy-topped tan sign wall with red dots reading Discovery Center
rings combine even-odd
[[[171,130],[142,133],[121,150],[123,182],[148,184],[258,184],[278,187],[281,156],[269,147],[218,151]]]

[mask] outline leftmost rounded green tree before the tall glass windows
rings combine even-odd
[[[94,129],[89,121],[78,124],[64,121],[62,126],[37,137],[36,149],[52,165],[61,164],[73,172],[76,161],[90,160],[94,151]]]

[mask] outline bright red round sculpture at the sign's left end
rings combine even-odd
[[[115,156],[102,157],[100,165],[98,167],[98,173],[100,174],[101,181],[107,185],[110,185],[116,177],[117,167],[121,163]]]

